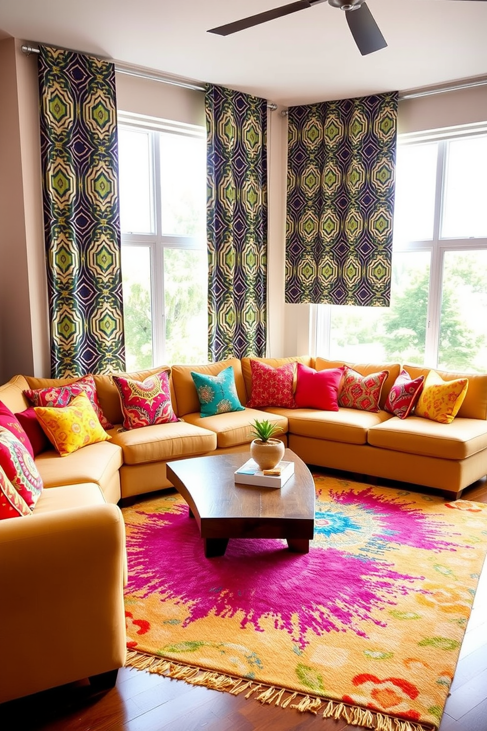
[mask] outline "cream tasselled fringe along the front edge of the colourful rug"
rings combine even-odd
[[[211,690],[219,690],[239,695],[245,693],[245,698],[254,696],[261,703],[279,706],[280,708],[295,708],[300,713],[314,713],[320,711],[323,719],[335,719],[336,721],[347,721],[351,726],[361,726],[373,731],[436,731],[437,727],[415,724],[413,721],[386,716],[384,713],[370,711],[368,708],[361,708],[358,705],[347,705],[335,700],[325,700],[319,696],[311,696],[290,691],[286,688],[276,686],[263,686],[261,683],[247,678],[233,678],[231,675],[223,675],[212,670],[204,670],[202,667],[180,664],[158,658],[153,655],[146,655],[134,650],[127,651],[127,667],[134,667],[136,670],[146,670],[148,673],[166,675],[168,678],[183,680],[191,685],[204,686]],[[258,695],[255,695],[255,694]],[[289,694],[288,697],[285,697]],[[298,699],[296,702],[294,700]],[[324,708],[323,708],[324,705]]]

